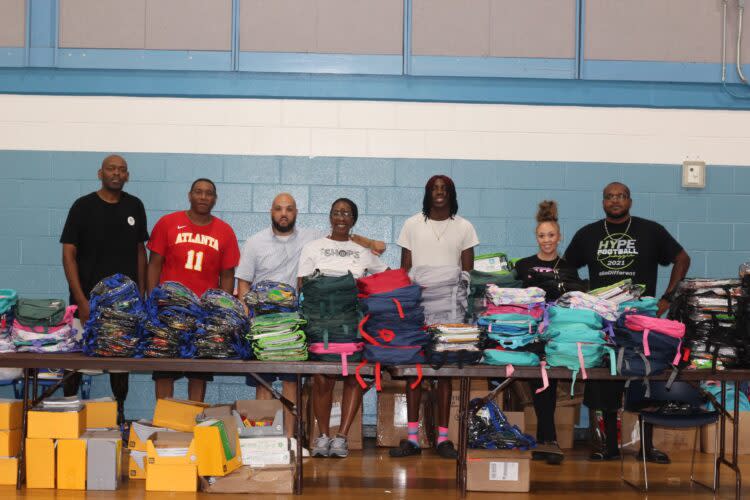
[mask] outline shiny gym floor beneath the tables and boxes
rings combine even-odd
[[[368,440],[370,441],[370,440]],[[352,452],[343,460],[305,459],[305,489],[303,498],[309,499],[414,499],[446,500],[458,498],[455,489],[455,462],[424,452],[421,457],[394,460],[388,450],[375,448],[366,441],[364,451]],[[531,493],[472,493],[469,500],[507,498],[544,499],[558,498],[607,498],[637,499],[645,495],[636,492],[620,481],[620,462],[591,463],[586,460],[585,444],[568,450],[562,465],[552,466],[543,462],[532,462]],[[712,498],[712,493],[689,481],[690,453],[670,455],[672,464],[663,466],[650,464],[649,481],[651,491],[648,498]],[[713,455],[697,454],[699,477],[708,482]],[[125,461],[127,463],[127,461]],[[626,456],[626,473],[635,471],[632,455]],[[740,457],[745,476],[743,497],[750,497],[750,458]],[[717,498],[734,498],[734,475],[722,470],[722,489]],[[258,498],[292,500],[294,495],[253,495]],[[209,495],[205,493],[160,493],[146,492],[144,481],[125,480],[116,492],[84,492],[69,490],[16,491],[10,486],[0,486],[0,499],[65,499],[115,498],[128,500],[246,500],[247,495]]]

